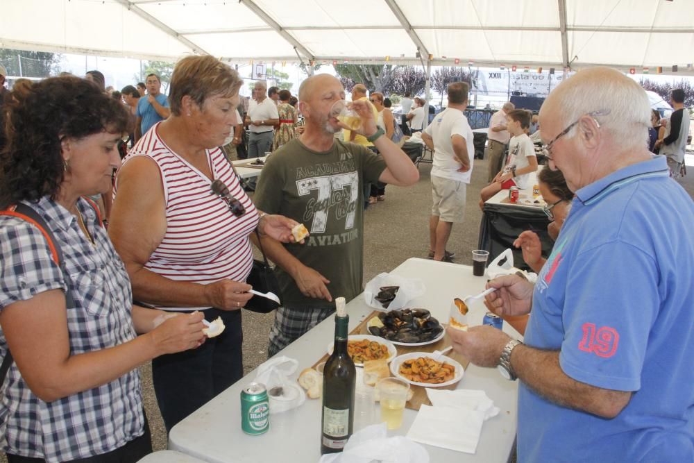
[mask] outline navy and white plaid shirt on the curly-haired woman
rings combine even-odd
[[[51,260],[37,228],[15,217],[0,217],[0,310],[40,292],[67,287],[76,305],[67,308],[71,355],[134,339],[130,280],[94,209],[83,199],[78,201],[96,246],[87,241],[76,218],[55,201],[43,198],[29,205],[51,227],[69,281]],[[0,330],[0,356],[6,353]],[[0,403],[2,449],[49,463],[106,453],[144,432],[137,369],[101,387],[46,403],[31,392],[17,364],[12,364]]]

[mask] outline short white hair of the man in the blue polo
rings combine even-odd
[[[591,112],[607,112],[595,119],[613,142],[627,148],[647,146],[651,126],[648,95],[641,85],[620,71],[609,67],[584,69],[562,82],[557,90],[560,103],[557,116],[563,126]],[[567,136],[572,137],[574,133],[575,127]]]

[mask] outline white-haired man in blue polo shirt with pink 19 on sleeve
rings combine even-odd
[[[521,380],[519,462],[694,461],[694,203],[648,152],[649,114],[614,69],[550,94],[541,136],[576,197],[536,285],[497,278],[487,298],[530,312],[525,344],[449,329],[456,351]]]

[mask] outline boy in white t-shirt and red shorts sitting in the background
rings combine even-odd
[[[522,109],[509,111],[507,130],[511,134],[509,142],[509,158],[506,166],[493,178],[491,184],[480,192],[480,208],[484,209],[484,201],[501,190],[518,187],[525,190],[530,185],[530,172],[537,170],[537,158],[532,140],[527,136],[530,127],[530,112]]]

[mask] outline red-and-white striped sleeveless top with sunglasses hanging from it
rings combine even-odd
[[[158,124],[124,158],[123,164],[135,156],[154,160],[164,185],[167,231],[144,267],[171,280],[201,284],[224,278],[246,281],[253,266],[248,235],[257,226],[257,211],[221,149],[208,150],[207,155],[213,178],[223,181],[246,208],[241,217],[235,217],[226,201],[212,194],[207,176],[171,151],[159,136]]]

